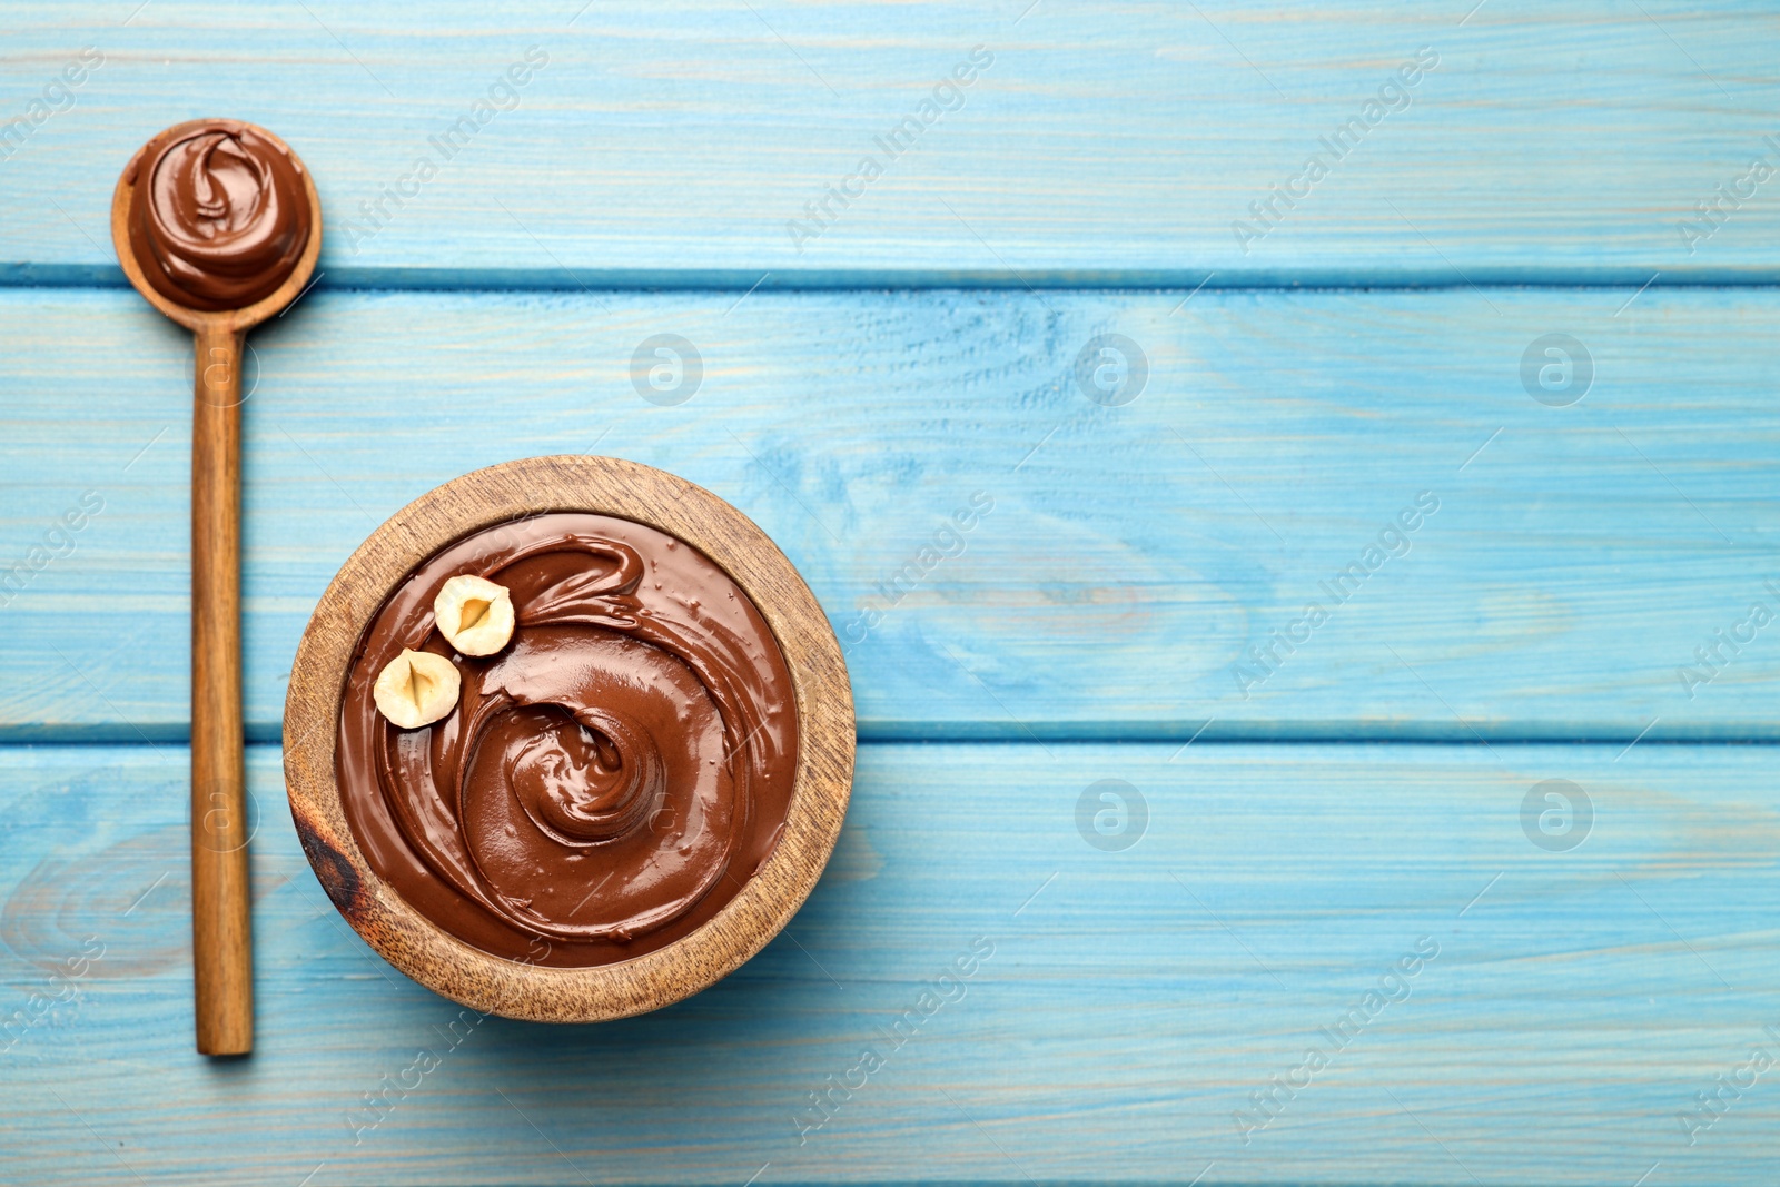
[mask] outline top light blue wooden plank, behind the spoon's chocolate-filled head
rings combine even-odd
[[[43,117],[0,160],[7,279],[116,283],[117,171],[215,112],[315,169],[324,285],[1780,276],[1771,4],[135,7],[0,14],[0,117]],[[103,64],[32,112],[82,46]]]

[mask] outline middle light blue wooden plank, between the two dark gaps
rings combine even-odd
[[[787,550],[867,737],[1780,733],[1780,628],[1750,621],[1780,607],[1780,294],[1184,295],[312,294],[253,338],[251,730],[276,737],[310,609],[376,523],[495,461],[598,450]],[[0,721],[182,739],[189,343],[103,290],[0,294],[0,559],[28,577],[0,609]],[[632,383],[657,333],[698,343],[685,404]],[[1105,333],[1148,359],[1123,408],[1075,375]],[[1591,356],[1568,408],[1522,386],[1547,333]],[[1369,555],[1424,491],[1410,552]],[[84,497],[103,511],[57,534]]]

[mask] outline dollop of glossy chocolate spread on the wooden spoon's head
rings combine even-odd
[[[240,310],[288,279],[310,242],[303,166],[228,119],[171,128],[125,171],[130,247],[155,292],[192,310]]]

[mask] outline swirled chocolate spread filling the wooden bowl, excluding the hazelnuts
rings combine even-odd
[[[513,641],[486,658],[433,621],[459,573],[513,596]],[[402,648],[461,673],[433,726],[376,710]],[[347,671],[336,772],[360,849],[415,909],[495,956],[578,968],[730,902],[778,844],[796,755],[790,669],[723,569],[641,523],[552,513],[459,539],[390,594]]]

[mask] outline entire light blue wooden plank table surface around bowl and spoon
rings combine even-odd
[[[1780,1182],[1780,9],[1472,4],[0,4],[0,1178]],[[240,1062],[190,347],[107,233],[212,114],[329,217],[249,361]],[[790,929],[578,1029],[376,957],[278,753],[370,529],[554,452],[753,516],[862,739]]]

